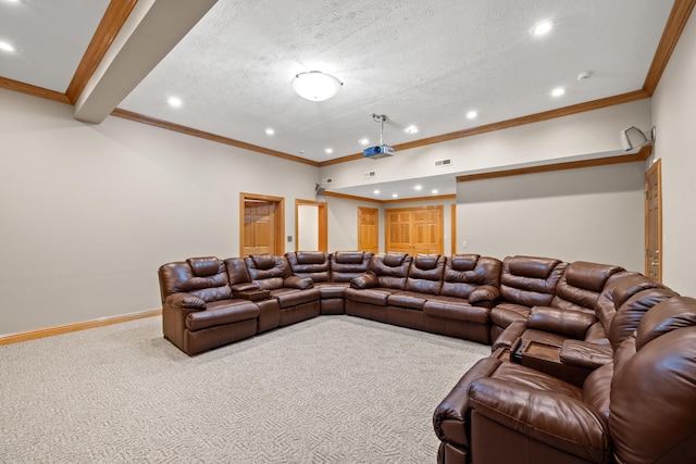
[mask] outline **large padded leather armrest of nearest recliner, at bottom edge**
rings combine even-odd
[[[481,415],[532,440],[588,462],[610,461],[605,416],[579,399],[514,381],[482,378],[471,384],[469,401]]]

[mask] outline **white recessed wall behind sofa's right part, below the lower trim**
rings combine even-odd
[[[644,174],[634,162],[459,183],[458,251],[642,272]]]

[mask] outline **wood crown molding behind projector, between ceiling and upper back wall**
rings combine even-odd
[[[455,140],[464,137],[471,137],[480,134],[490,133],[494,130],[507,129],[510,127],[522,126],[525,124],[538,123],[540,121],[554,120],[556,117],[569,116],[571,114],[584,113],[586,111],[599,110],[601,108],[613,106],[617,104],[629,103],[636,100],[643,100],[650,96],[645,90],[635,90],[629,93],[622,93],[613,97],[602,98],[599,100],[587,101],[585,103],[573,104],[570,106],[559,108],[556,110],[545,111],[542,113],[530,114],[527,116],[515,117],[514,120],[501,121],[499,123],[487,124],[485,126],[472,127],[470,129],[457,130],[455,133],[443,134],[440,136],[428,137],[421,140],[414,140],[408,143],[394,146],[394,149],[409,150],[417,147],[424,147],[433,143],[440,143],[448,140]],[[331,164],[345,163],[348,161],[362,159],[362,154],[351,154],[348,156],[337,158],[319,163],[320,167]]]

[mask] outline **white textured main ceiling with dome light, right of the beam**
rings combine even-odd
[[[376,145],[373,112],[398,145],[641,89],[671,7],[220,0],[120,108],[321,162],[360,152],[363,137]],[[546,18],[551,33],[532,36]],[[340,92],[295,95],[291,77],[312,70],[343,80]],[[593,77],[577,80],[584,71]],[[568,91],[554,99],[557,86]],[[170,108],[170,96],[184,105]],[[406,134],[412,124],[420,131]]]

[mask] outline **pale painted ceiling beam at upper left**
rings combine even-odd
[[[99,124],[217,0],[139,0],[75,102],[75,118]]]

